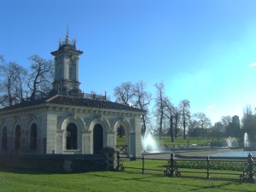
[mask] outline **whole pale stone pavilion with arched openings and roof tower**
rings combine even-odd
[[[145,111],[83,94],[79,89],[76,42],[66,39],[55,56],[55,79],[48,97],[0,109],[0,154],[97,154],[114,148],[117,130],[125,129],[126,152],[139,155],[141,115]]]

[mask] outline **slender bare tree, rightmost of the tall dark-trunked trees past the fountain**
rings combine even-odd
[[[179,102],[179,109],[183,123],[183,139],[186,139],[186,128],[189,125],[190,119],[190,102],[185,99]]]

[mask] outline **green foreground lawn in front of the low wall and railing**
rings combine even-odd
[[[141,162],[125,161],[124,164],[140,166]],[[154,166],[154,162],[146,166]],[[54,173],[0,167],[0,191],[256,191],[254,183],[243,183],[225,176],[207,180],[205,175],[192,177],[190,173],[182,177],[164,177],[160,172],[140,172],[127,168],[125,172]]]

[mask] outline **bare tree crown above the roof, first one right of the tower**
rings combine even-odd
[[[116,86],[113,90],[113,95],[116,97],[116,101],[127,106],[133,107],[135,102],[133,101],[134,93],[134,84],[131,82],[125,82]]]

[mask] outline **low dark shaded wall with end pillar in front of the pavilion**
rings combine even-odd
[[[0,154],[0,166],[53,172],[106,171],[114,169],[114,150],[103,149],[101,154]]]

